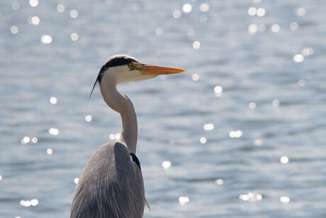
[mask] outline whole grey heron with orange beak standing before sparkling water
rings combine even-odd
[[[94,87],[99,83],[108,107],[120,113],[120,139],[103,144],[89,159],[74,192],[70,217],[142,217],[147,201],[140,162],[135,156],[137,116],[133,103],[125,94],[120,94],[116,86],[184,71],[143,64],[128,55],[108,58]]]

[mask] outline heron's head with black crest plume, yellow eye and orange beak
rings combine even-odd
[[[116,84],[123,82],[137,82],[148,80],[158,75],[169,75],[186,70],[174,67],[162,67],[158,65],[147,65],[129,55],[113,55],[108,58],[106,63],[101,67],[99,75],[96,78],[94,87],[97,82],[101,84],[103,77],[108,80],[115,80]],[[94,90],[91,90],[91,93]],[[89,95],[91,97],[91,95]]]

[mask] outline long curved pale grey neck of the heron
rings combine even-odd
[[[126,95],[118,92],[116,83],[113,80],[110,80],[111,82],[103,81],[104,77],[100,85],[103,99],[108,104],[108,107],[120,114],[122,119],[123,127],[119,142],[123,143],[131,152],[136,153],[137,116],[133,103]]]

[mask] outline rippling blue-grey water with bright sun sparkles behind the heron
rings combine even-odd
[[[118,87],[137,112],[144,217],[326,217],[325,11],[1,1],[0,217],[69,217],[76,178],[120,133],[99,87],[86,102],[121,53],[187,70]]]

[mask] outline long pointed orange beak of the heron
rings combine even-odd
[[[140,67],[137,67],[137,70],[139,70],[142,75],[169,75],[186,71],[174,67],[162,67],[147,64],[141,64]]]

